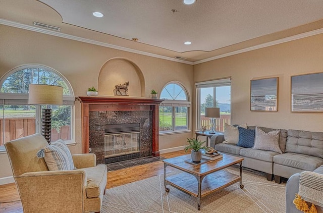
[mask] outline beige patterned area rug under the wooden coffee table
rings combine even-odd
[[[168,169],[168,175],[178,173]],[[239,174],[239,169],[231,167],[227,172]],[[196,182],[197,183],[197,182]],[[197,210],[196,198],[171,186],[170,192],[164,188],[164,177],[155,176],[123,186],[107,189],[103,197],[101,212],[285,212],[285,184],[267,181],[262,173],[243,170],[244,189],[239,183],[201,199],[201,209]]]

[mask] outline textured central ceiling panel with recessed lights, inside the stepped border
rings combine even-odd
[[[211,51],[323,19],[323,1],[310,0],[40,1],[65,23],[177,52]],[[94,11],[104,17],[93,17]]]

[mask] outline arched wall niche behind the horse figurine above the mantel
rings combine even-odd
[[[99,73],[99,95],[114,95],[115,85],[127,81],[129,96],[145,97],[145,79],[140,68],[125,58],[110,59],[103,64]]]

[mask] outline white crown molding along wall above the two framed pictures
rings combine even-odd
[[[286,37],[286,38],[282,38],[282,39],[278,39],[278,40],[274,40],[274,41],[270,41],[270,42],[266,42],[266,43],[262,43],[262,44],[258,44],[258,45],[247,47],[247,48],[244,48],[244,49],[239,49],[239,50],[228,52],[226,54],[222,54],[222,55],[219,55],[219,56],[214,56],[214,57],[211,57],[211,58],[208,58],[208,59],[203,59],[203,60],[200,60],[200,61],[193,62],[193,65],[213,61],[213,60],[216,60],[216,59],[225,58],[225,57],[228,57],[228,56],[241,54],[243,52],[248,52],[248,51],[252,51],[252,50],[255,50],[255,49],[260,49],[260,48],[267,47],[267,46],[273,46],[273,45],[276,45],[276,44],[281,44],[281,43],[285,43],[285,42],[289,42],[289,41],[293,41],[293,40],[297,40],[297,39],[301,39],[301,38],[306,38],[306,37],[313,36],[313,35],[318,35],[318,34],[321,34],[321,33],[323,33],[323,28],[320,28],[320,29],[317,29],[317,30],[312,30],[312,31],[309,31],[309,32],[304,32],[304,33],[297,34],[297,35],[292,35],[292,36],[289,36],[289,37]]]

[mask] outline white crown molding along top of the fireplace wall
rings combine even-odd
[[[95,44],[95,45],[99,45],[99,46],[109,47],[109,48],[113,48],[113,49],[119,49],[119,50],[123,50],[123,51],[127,51],[127,52],[133,52],[135,54],[150,56],[150,57],[154,57],[154,58],[158,58],[158,59],[164,59],[164,60],[168,60],[168,61],[193,65],[193,62],[183,61],[183,60],[174,59],[174,58],[166,57],[166,56],[160,56],[157,54],[152,54],[150,52],[140,51],[140,50],[131,49],[131,48],[123,47],[123,46],[117,46],[117,45],[113,45],[110,43],[104,43],[104,42],[100,42],[100,41],[95,41],[95,40],[91,40],[91,39],[87,39],[87,38],[82,38],[82,37],[78,37],[78,36],[74,36],[74,35],[65,34],[62,32],[55,32],[55,31],[51,31],[51,30],[47,30],[47,29],[42,29],[42,28],[26,25],[26,24],[21,24],[18,22],[8,21],[5,19],[0,19],[0,24],[11,26],[11,27],[17,27],[20,29],[30,30],[30,31],[34,31],[34,32],[44,33],[47,35],[53,35],[53,36],[57,36],[57,37],[61,37],[61,38],[67,38],[67,39],[71,39],[71,40],[76,40],[76,41]]]

